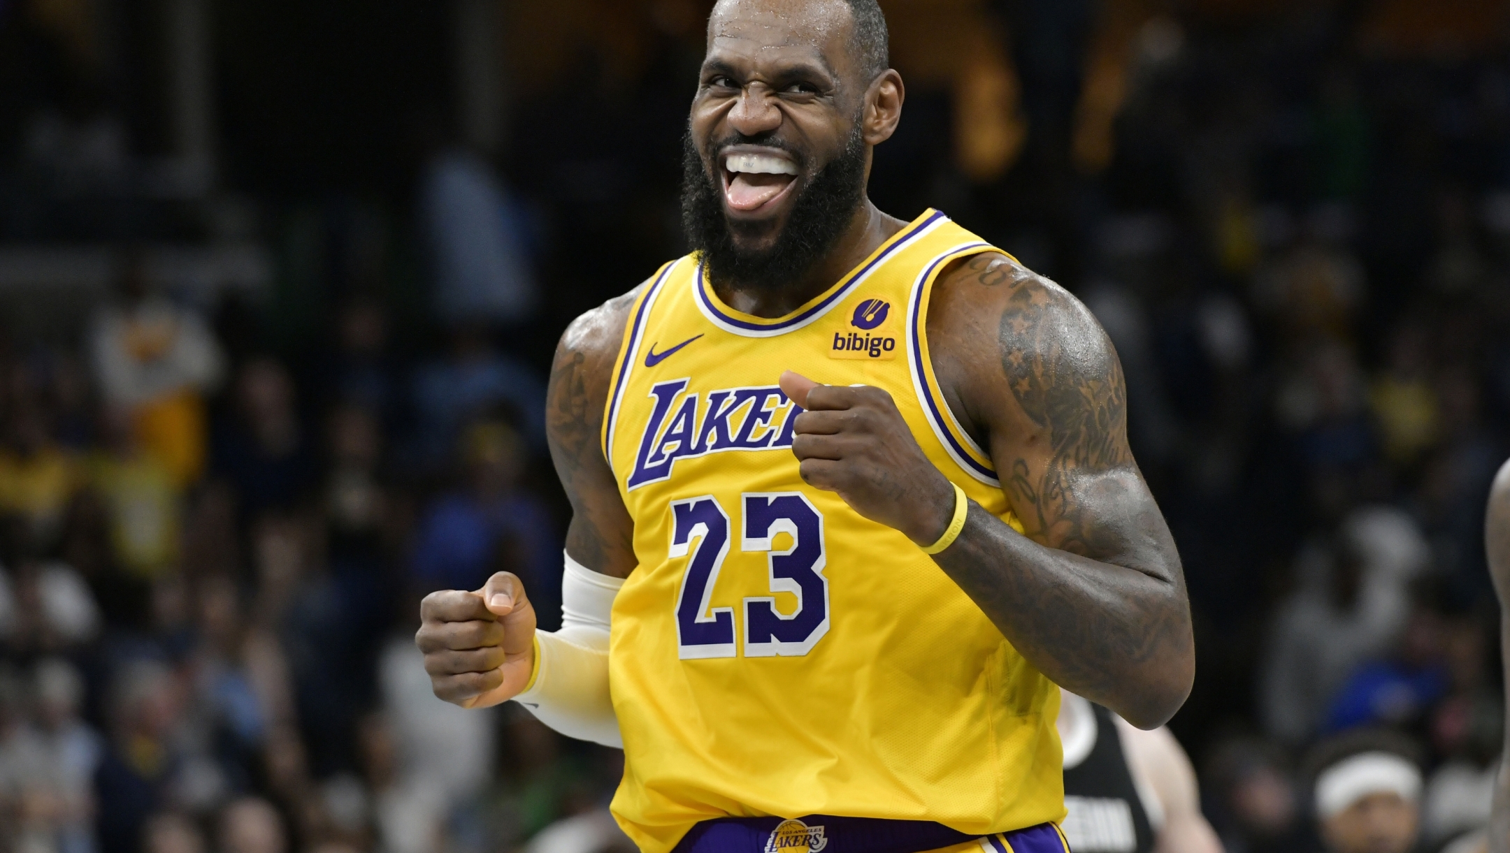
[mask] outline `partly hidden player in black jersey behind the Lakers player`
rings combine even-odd
[[[1065,691],[1060,829],[1075,853],[1222,853],[1205,815],[1196,770],[1169,729],[1143,731]]]

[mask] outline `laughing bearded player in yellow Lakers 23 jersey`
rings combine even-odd
[[[648,853],[1063,853],[1055,684],[1143,728],[1190,690],[1116,353],[942,213],[870,204],[901,104],[874,0],[714,8],[696,251],[553,368],[563,628],[507,574],[423,604],[438,696],[622,743]]]

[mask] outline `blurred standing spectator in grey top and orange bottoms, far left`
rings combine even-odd
[[[130,414],[140,445],[177,486],[198,480],[204,394],[220,379],[220,349],[199,314],[153,293],[140,252],[119,260],[116,302],[95,317],[89,349],[106,402]]]

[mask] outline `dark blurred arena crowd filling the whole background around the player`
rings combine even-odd
[[[88,6],[0,2],[0,245],[110,257],[88,311],[0,323],[0,847],[621,847],[621,756],[433,699],[412,633],[426,592],[498,569],[559,619],[544,371],[572,316],[683,251],[705,3],[569,3],[607,41],[554,65],[566,26],[515,3],[503,148],[396,103],[382,180],[299,192],[228,115],[202,198],[133,130],[140,98],[109,85],[130,51],[97,56]],[[939,207],[1059,279],[1122,358],[1197,625],[1172,728],[1226,848],[1351,853],[1315,782],[1361,737],[1421,774],[1380,788],[1403,817],[1377,850],[1481,827],[1504,720],[1483,553],[1510,453],[1502,3],[882,6],[911,86],[877,204]],[[223,38],[255,35],[226,9]],[[226,103],[258,103],[234,47]],[[270,288],[187,293],[154,254],[230,237],[269,246]]]

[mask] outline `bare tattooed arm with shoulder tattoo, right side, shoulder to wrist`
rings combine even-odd
[[[1163,725],[1194,678],[1190,605],[1128,448],[1111,343],[1075,297],[998,254],[945,270],[932,302],[939,383],[1027,533],[972,506],[939,566],[1055,684]]]

